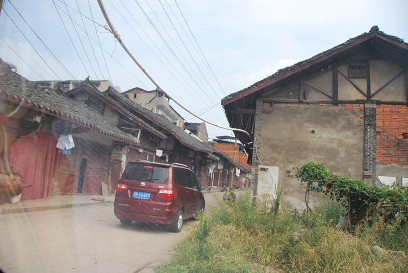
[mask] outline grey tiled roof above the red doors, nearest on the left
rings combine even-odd
[[[87,105],[74,101],[56,90],[35,84],[13,72],[2,59],[0,59],[0,98],[81,125],[113,140],[139,142],[133,135],[121,131]]]

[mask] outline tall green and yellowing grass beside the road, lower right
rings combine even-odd
[[[272,205],[273,206],[273,205]],[[321,200],[308,215],[271,204],[252,202],[248,192],[235,203],[219,202],[211,217],[198,223],[156,272],[407,272],[408,259],[371,253],[384,249],[407,251],[396,228],[376,222],[362,224],[352,234],[338,230],[342,211]],[[337,218],[337,219],[336,219]]]

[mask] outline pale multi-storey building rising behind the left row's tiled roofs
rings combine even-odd
[[[122,94],[127,95],[131,100],[140,104],[153,113],[165,116],[173,124],[180,128],[184,126],[184,118],[170,106],[169,98],[158,90],[146,91],[139,87],[127,90]]]

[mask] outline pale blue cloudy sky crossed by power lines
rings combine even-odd
[[[120,38],[159,85],[227,126],[221,99],[373,25],[408,40],[408,1],[103,0]],[[110,79],[156,87],[103,26],[96,0],[4,0],[0,58],[29,80]],[[201,122],[170,101],[188,122]],[[209,138],[232,135],[207,124]]]

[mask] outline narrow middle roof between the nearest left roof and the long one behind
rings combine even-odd
[[[156,134],[158,137],[162,138],[162,139],[166,139],[166,135],[159,132],[158,130],[156,130],[155,128],[151,127],[150,125],[148,125],[146,122],[144,122],[143,120],[141,120],[140,118],[136,117],[135,115],[133,115],[132,113],[130,113],[129,111],[125,110],[125,108],[123,108],[123,106],[117,102],[116,100],[112,99],[111,97],[109,97],[108,93],[106,92],[100,92],[99,90],[97,90],[95,87],[93,87],[92,85],[89,84],[83,84],[75,89],[66,91],[64,94],[66,96],[70,96],[71,94],[75,94],[80,90],[87,90],[88,92],[90,92],[92,95],[98,97],[99,99],[103,100],[105,103],[109,104],[111,107],[115,108],[116,111],[118,111],[119,113],[121,113],[122,115],[128,117],[130,120],[134,121],[136,124],[140,125],[141,127],[143,127],[144,129]]]

